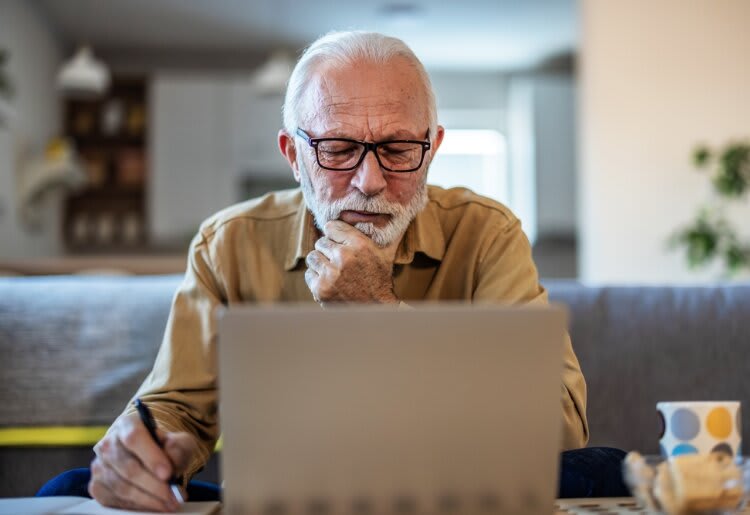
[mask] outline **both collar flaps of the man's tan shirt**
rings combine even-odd
[[[293,270],[300,261],[304,262],[307,254],[315,248],[315,241],[319,237],[312,214],[307,209],[305,201],[301,200],[295,215],[294,227],[289,233],[284,269]],[[445,237],[437,215],[437,205],[433,202],[428,202],[406,228],[406,234],[396,250],[394,263],[409,264],[414,261],[414,256],[418,252],[436,261],[442,260],[445,256]]]

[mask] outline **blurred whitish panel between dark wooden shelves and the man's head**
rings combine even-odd
[[[151,236],[185,243],[202,220],[236,201],[228,169],[231,79],[158,75],[151,85]]]

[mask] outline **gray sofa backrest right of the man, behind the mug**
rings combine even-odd
[[[590,445],[658,453],[658,401],[739,400],[748,427],[750,285],[545,286],[570,309]]]

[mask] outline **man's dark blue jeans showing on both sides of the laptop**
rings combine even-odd
[[[622,482],[620,467],[625,452],[610,447],[588,447],[564,451],[560,455],[560,483],[558,497],[628,497],[630,492]],[[91,472],[87,468],[63,472],[44,485],[38,497],[77,495],[89,497]],[[191,501],[218,501],[219,485],[191,481],[187,487]]]

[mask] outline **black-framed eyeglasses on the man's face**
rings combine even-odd
[[[430,149],[430,131],[426,141],[397,139],[370,143],[348,138],[311,138],[297,128],[297,135],[315,149],[318,165],[326,170],[348,172],[354,170],[372,151],[378,164],[389,172],[415,172],[424,162],[424,154]]]

